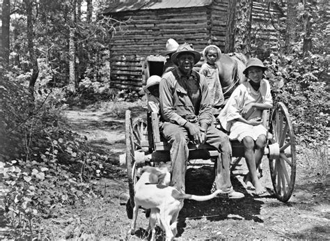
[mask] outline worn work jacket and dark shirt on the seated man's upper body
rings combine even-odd
[[[192,70],[183,75],[175,68],[164,73],[159,84],[162,120],[183,126],[191,123],[212,123],[212,108],[205,76]]]

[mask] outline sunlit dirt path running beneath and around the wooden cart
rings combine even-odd
[[[102,111],[66,111],[73,130],[85,135],[100,151],[111,153],[113,159],[125,152],[123,118],[110,118]],[[269,193],[254,196],[246,189],[242,178],[246,173],[244,162],[233,171],[234,188],[245,194],[236,201],[213,199],[207,202],[184,201],[179,215],[178,239],[327,239],[330,237],[329,175],[315,173],[298,155],[297,180],[288,203],[281,203],[272,195],[267,163],[264,162],[262,183]],[[123,166],[125,169],[125,166]],[[212,165],[191,165],[187,171],[186,192],[207,194],[212,185]],[[82,238],[140,239],[146,238],[148,220],[140,211],[135,236],[127,236],[130,219],[127,219],[125,203],[128,199],[127,182],[121,178],[104,179],[102,199],[86,201],[86,207],[71,210],[84,224]],[[63,217],[64,218],[64,217]],[[46,224],[45,224],[46,225]],[[48,224],[47,224],[48,225]],[[77,221],[66,224],[78,225]],[[63,228],[65,226],[63,225]],[[65,237],[74,237],[64,235]],[[162,237],[159,237],[162,240]]]

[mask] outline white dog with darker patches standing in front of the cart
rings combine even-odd
[[[175,189],[175,187],[168,186],[170,178],[171,176],[167,168],[160,169],[152,166],[143,167],[141,177],[135,185],[135,205],[129,233],[132,235],[134,234],[139,207],[150,208],[150,228],[152,228],[151,240],[155,240],[156,223],[165,231],[166,240],[173,240],[178,233],[177,219],[183,207],[183,200],[193,199],[195,201],[207,201],[213,199],[221,192],[217,190],[213,194],[207,196],[182,194],[178,189]]]

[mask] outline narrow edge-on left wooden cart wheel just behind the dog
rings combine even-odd
[[[134,186],[136,183],[136,168],[134,152],[138,148],[134,141],[133,124],[131,111],[125,113],[125,139],[126,139],[126,166],[127,166],[127,181],[129,187],[129,200],[126,204],[127,217],[132,219],[134,208]]]

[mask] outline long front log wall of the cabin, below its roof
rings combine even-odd
[[[111,49],[111,86],[141,89],[143,60],[165,50],[168,38],[179,44],[189,42],[194,49],[202,51],[207,45],[207,7],[138,10],[116,13],[112,17],[126,21],[125,34],[113,36]],[[209,17],[210,18],[210,17]]]

